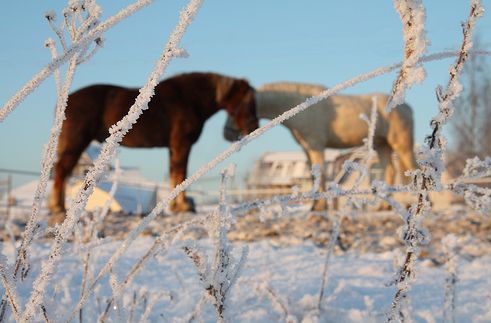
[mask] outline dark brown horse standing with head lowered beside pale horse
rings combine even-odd
[[[82,152],[92,140],[102,142],[109,136],[108,129],[128,113],[138,93],[138,89],[92,85],[69,95],[48,202],[54,214],[50,223],[64,220],[66,181]],[[247,81],[214,73],[171,77],[155,87],[148,110],[121,145],[169,147],[173,188],[186,178],[191,146],[198,140],[205,121],[219,109],[227,111],[243,134],[258,127],[254,89]],[[171,202],[170,209],[194,211],[184,192]]]

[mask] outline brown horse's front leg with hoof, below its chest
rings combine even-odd
[[[173,140],[169,147],[170,155],[170,188],[173,189],[186,179],[191,142],[184,140]],[[186,199],[184,191],[171,201],[170,210],[173,213],[196,212],[194,205]]]

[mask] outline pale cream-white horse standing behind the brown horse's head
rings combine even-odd
[[[256,90],[257,115],[259,118],[273,119],[324,90],[326,88],[323,86],[303,83],[263,85]],[[385,169],[385,181],[389,185],[395,182],[392,153],[396,152],[399,157],[400,178],[407,182],[409,179],[404,176],[405,171],[417,167],[413,152],[412,110],[407,104],[401,104],[387,113],[384,109],[388,96],[375,95],[378,96],[378,116],[373,143],[380,164]],[[319,191],[325,191],[324,149],[363,145],[363,139],[368,135],[368,125],[360,119],[360,114],[370,115],[372,97],[373,94],[331,96],[283,122],[302,146],[309,164],[320,166]],[[233,140],[238,133],[228,121],[224,135],[227,140]],[[326,201],[321,199],[314,202],[312,209],[324,210],[326,207]]]

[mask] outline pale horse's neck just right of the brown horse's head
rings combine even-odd
[[[281,91],[257,91],[257,115],[263,119],[274,119],[283,112],[305,101],[307,97]]]

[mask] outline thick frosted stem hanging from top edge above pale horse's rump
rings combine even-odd
[[[420,58],[426,51],[425,8],[421,0],[394,0],[399,13],[404,34],[404,61],[399,75],[392,86],[386,111],[404,102],[406,89],[415,83],[421,83],[425,77]]]

